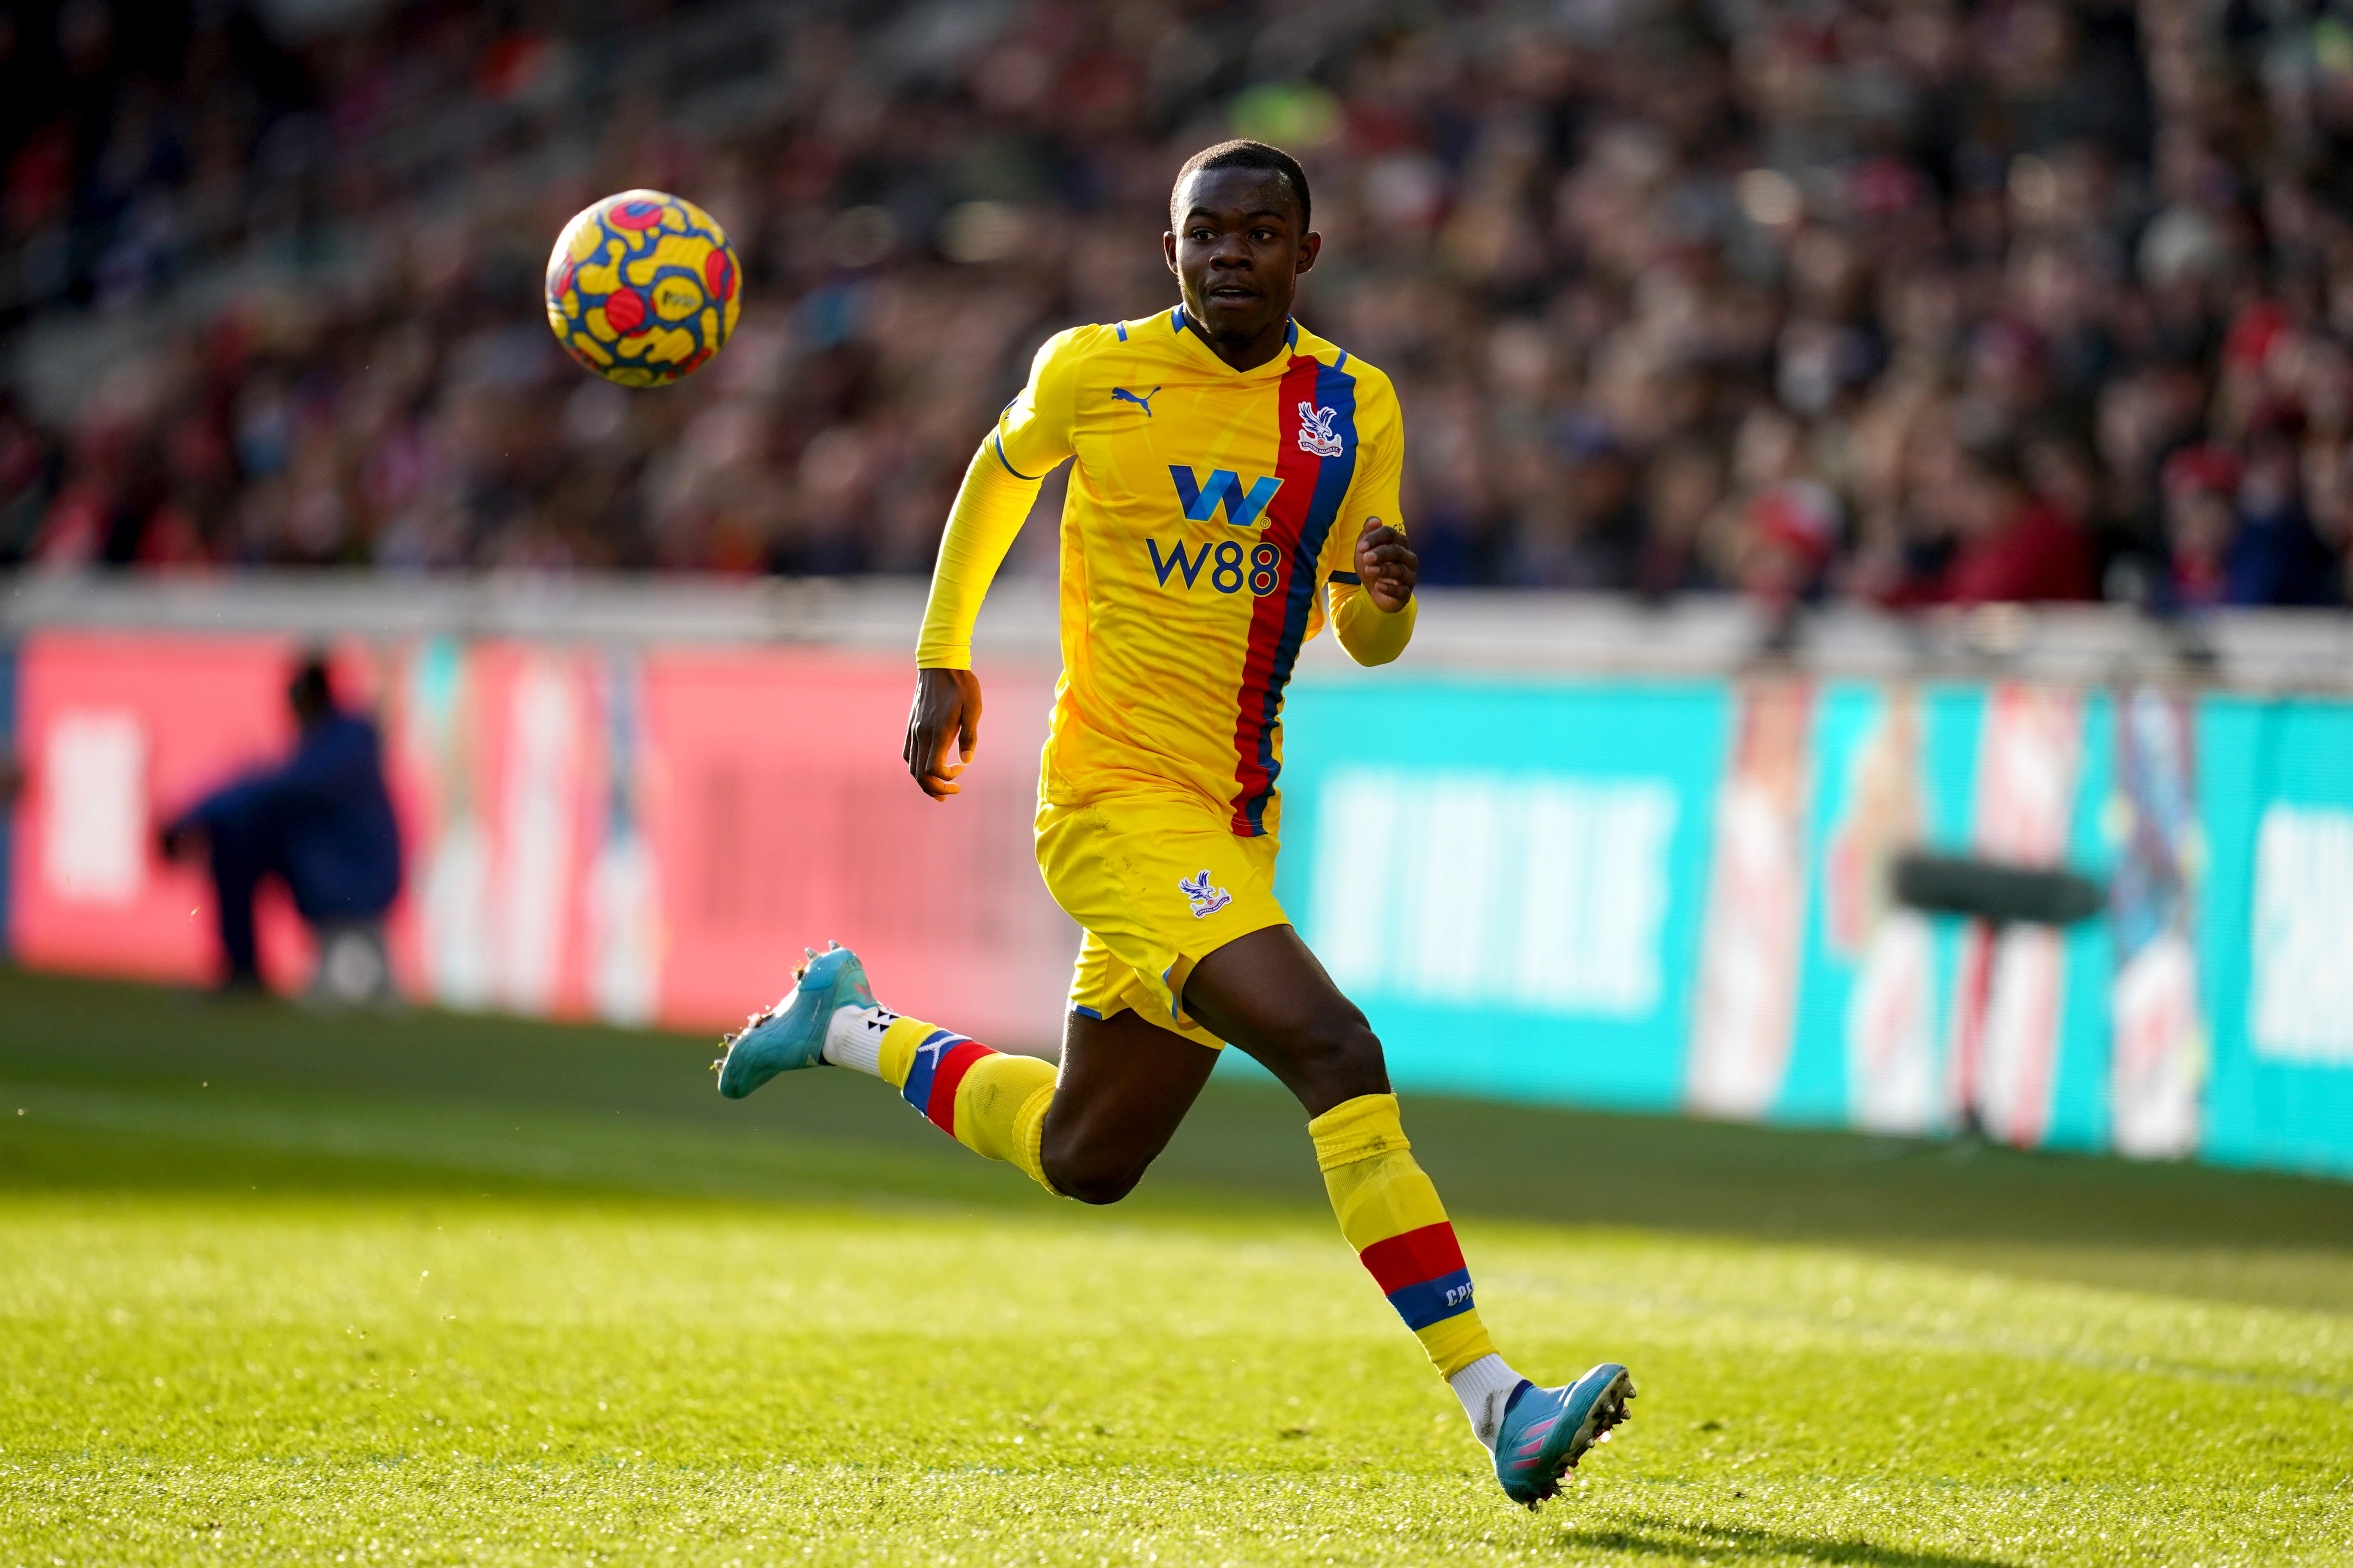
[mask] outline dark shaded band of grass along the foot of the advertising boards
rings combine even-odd
[[[854,1072],[720,1100],[715,1041],[416,1011],[322,1018],[0,969],[0,1192],[595,1192],[1045,1208]],[[1322,1218],[1304,1114],[1221,1065],[1129,1201]],[[2332,1307],[2353,1182],[1407,1093],[1459,1218],[1809,1241]],[[12,1117],[16,1107],[28,1117]],[[47,1126],[42,1126],[47,1124]],[[106,1145],[106,1147],[101,1147]],[[2257,1267],[2259,1265],[2259,1267]]]

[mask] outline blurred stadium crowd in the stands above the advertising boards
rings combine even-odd
[[[0,555],[927,571],[1035,343],[1167,303],[1172,169],[1257,134],[1426,581],[2341,604],[2348,9],[68,0],[0,24]],[[536,299],[626,186],[748,280],[664,393]]]

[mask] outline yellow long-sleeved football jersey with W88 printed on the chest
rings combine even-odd
[[[1362,663],[1412,632],[1412,602],[1381,611],[1353,571],[1367,520],[1402,531],[1402,447],[1388,376],[1297,322],[1289,348],[1249,371],[1219,360],[1181,306],[1061,331],[974,456],[918,663],[969,663],[979,590],[1009,543],[958,536],[981,531],[974,491],[1000,482],[986,463],[1035,494],[1075,456],[1042,799],[1176,785],[1238,835],[1273,832],[1282,689],[1327,597]]]

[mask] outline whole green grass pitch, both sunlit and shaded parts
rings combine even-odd
[[[0,971],[0,1566],[2353,1563],[2353,1187],[1407,1103],[1541,1514],[1212,1084],[1052,1201],[847,1072]]]

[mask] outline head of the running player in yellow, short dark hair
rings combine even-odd
[[[1221,141],[1186,158],[1160,244],[1202,331],[1240,341],[1289,317],[1322,249],[1308,212],[1306,169],[1282,148]]]

